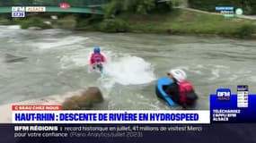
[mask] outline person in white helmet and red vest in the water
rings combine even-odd
[[[195,105],[196,100],[199,98],[195,93],[193,86],[187,81],[187,74],[180,69],[171,70],[167,75],[173,80],[165,92],[172,97],[172,100],[179,105],[182,105],[184,109],[188,106]]]

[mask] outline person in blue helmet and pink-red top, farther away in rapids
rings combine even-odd
[[[106,57],[101,54],[101,48],[99,46],[95,46],[93,48],[93,54],[90,57],[90,66],[93,67],[93,69],[96,67],[102,68],[102,63],[106,62]]]

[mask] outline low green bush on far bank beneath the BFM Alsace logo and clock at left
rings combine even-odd
[[[29,20],[21,21],[22,29],[29,29],[30,27],[39,27],[41,29],[51,29],[51,25],[44,23],[39,18],[31,18]]]

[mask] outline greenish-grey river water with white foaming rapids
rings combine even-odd
[[[255,40],[1,26],[0,42],[1,105],[96,86],[102,109],[170,109],[154,86],[171,68],[187,72],[199,109],[216,88],[245,84],[256,93]],[[93,46],[108,58],[102,78],[88,68]]]

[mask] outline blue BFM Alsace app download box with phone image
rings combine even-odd
[[[210,95],[211,123],[256,122],[256,95],[248,93],[246,87],[238,87],[237,94],[229,88],[219,88]]]

